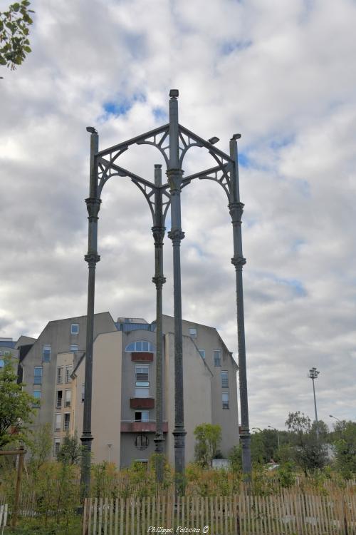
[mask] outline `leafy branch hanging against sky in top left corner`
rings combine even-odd
[[[34,11],[28,6],[30,1],[21,0],[11,4],[7,11],[0,11],[0,65],[10,67],[11,71],[31,52],[28,28],[33,21],[29,14]]]

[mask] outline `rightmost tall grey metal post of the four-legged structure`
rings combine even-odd
[[[240,384],[240,407],[241,407],[241,445],[242,445],[242,471],[248,481],[251,477],[251,434],[248,424],[248,397],[247,397],[247,374],[246,374],[246,347],[245,347],[245,321],[244,321],[244,289],[242,285],[242,267],[246,264],[246,258],[242,254],[241,217],[244,212],[244,204],[240,202],[239,191],[239,166],[236,139],[241,137],[236,134],[230,140],[230,156],[234,163],[231,166],[231,195],[229,211],[234,234],[234,258],[231,263],[236,272],[236,310],[237,310],[237,339],[239,347],[239,384]]]

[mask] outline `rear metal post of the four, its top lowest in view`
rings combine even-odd
[[[162,431],[163,414],[163,381],[162,381],[162,360],[163,360],[163,340],[162,340],[162,286],[166,279],[163,276],[163,238],[166,228],[163,225],[162,213],[162,165],[155,165],[155,225],[152,227],[152,234],[155,240],[155,277],[152,282],[156,285],[156,435],[155,453],[156,459],[156,480],[163,481],[163,443]]]

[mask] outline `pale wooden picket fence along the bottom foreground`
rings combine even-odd
[[[356,496],[283,491],[274,496],[183,496],[177,504],[172,493],[142,499],[85,499],[83,535],[155,533],[356,535]]]

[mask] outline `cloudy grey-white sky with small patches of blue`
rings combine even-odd
[[[8,2],[0,1],[0,11]],[[356,419],[356,1],[36,0],[32,53],[0,68],[0,336],[37,337],[86,313],[90,135],[100,149],[179,122],[229,151],[240,192],[251,427]],[[164,163],[132,146],[119,165],[153,180]],[[189,175],[215,165],[203,148]],[[165,168],[163,168],[163,173]],[[196,183],[197,182],[197,183]],[[236,355],[232,228],[224,190],[182,191],[182,313]],[[99,213],[95,312],[155,319],[152,218],[115,177]],[[167,219],[169,230],[169,218]],[[164,313],[172,244],[164,240]]]

